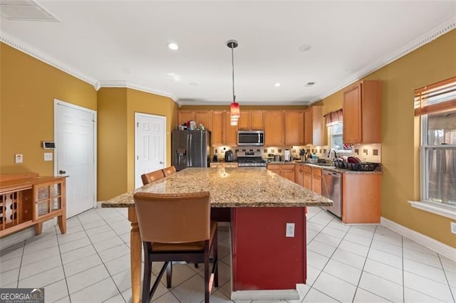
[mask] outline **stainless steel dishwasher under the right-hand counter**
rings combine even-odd
[[[342,218],[342,174],[336,171],[321,172],[321,195],[333,201],[333,206],[323,206],[327,211]]]

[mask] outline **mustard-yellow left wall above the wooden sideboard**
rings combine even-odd
[[[97,110],[97,92],[4,43],[0,63],[0,173],[53,176],[53,161],[43,160],[41,141],[54,139],[54,98]],[[24,154],[24,163],[15,164],[14,154]]]

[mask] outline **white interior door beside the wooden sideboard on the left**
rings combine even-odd
[[[66,179],[66,217],[96,206],[96,112],[54,100],[54,174]]]

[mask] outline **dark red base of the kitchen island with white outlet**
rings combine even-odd
[[[306,283],[306,208],[232,208],[231,220],[232,299],[272,294],[249,292],[258,290],[279,290],[280,297],[286,294],[281,289],[290,289],[296,295],[296,284]],[[286,237],[287,223],[294,223],[294,237]]]

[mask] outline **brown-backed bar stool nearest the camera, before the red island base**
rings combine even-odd
[[[150,302],[165,270],[167,287],[171,287],[172,261],[204,263],[204,302],[209,302],[212,282],[215,287],[219,284],[217,222],[210,220],[209,192],[135,193],[133,198],[144,248],[142,302]],[[165,264],[150,288],[152,262]]]

